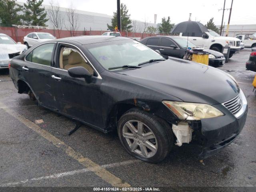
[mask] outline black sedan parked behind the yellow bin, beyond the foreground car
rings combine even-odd
[[[196,45],[192,44],[190,41],[178,36],[152,36],[144,38],[140,42],[154,50],[159,50],[163,55],[181,59],[186,54],[187,47],[196,47]],[[225,64],[225,57],[222,53],[210,49],[204,49],[204,51],[210,53],[210,66],[220,67]]]

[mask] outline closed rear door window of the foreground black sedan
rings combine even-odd
[[[27,56],[26,61],[50,66],[52,60],[52,52],[54,48],[54,43],[47,43],[38,46],[32,50]]]

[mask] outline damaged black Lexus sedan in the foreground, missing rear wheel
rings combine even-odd
[[[248,110],[229,74],[125,37],[38,44],[12,60],[10,77],[18,93],[45,108],[104,133],[117,130],[128,153],[152,163],[191,141],[201,160],[216,154],[241,132]]]

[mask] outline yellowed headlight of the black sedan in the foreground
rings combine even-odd
[[[163,104],[181,120],[200,120],[224,115],[220,110],[208,104],[176,101],[163,101]]]

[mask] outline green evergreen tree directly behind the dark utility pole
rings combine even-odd
[[[117,25],[117,11],[113,13],[113,18],[111,20],[111,25],[107,24],[109,30],[114,30]],[[125,4],[121,4],[120,6],[120,14],[121,14],[121,30],[122,31],[132,31],[132,20],[130,20],[130,14],[128,14],[128,9]]]

